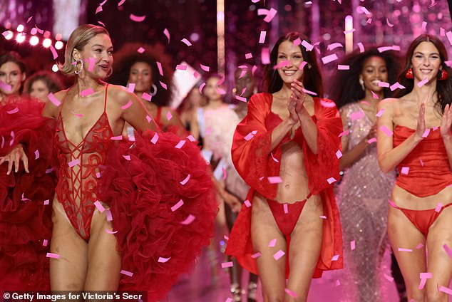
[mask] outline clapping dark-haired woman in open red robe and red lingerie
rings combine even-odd
[[[305,301],[312,277],[342,267],[331,185],[342,123],[332,101],[305,93],[322,96],[322,78],[302,41],[310,45],[299,33],[279,38],[267,66],[269,93],[252,96],[232,144],[251,189],[226,254],[260,275],[264,301]]]

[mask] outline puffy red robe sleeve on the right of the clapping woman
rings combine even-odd
[[[308,175],[309,192],[319,194],[329,187],[331,182],[339,179],[339,158],[341,150],[342,121],[339,111],[331,100],[314,99],[317,120],[317,150],[314,154],[303,140],[304,165]],[[334,179],[333,179],[334,178]]]

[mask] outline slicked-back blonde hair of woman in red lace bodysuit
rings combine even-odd
[[[63,65],[59,65],[58,68],[65,75],[75,75],[76,71],[76,61],[73,56],[73,50],[77,49],[78,51],[82,51],[83,47],[88,44],[88,41],[91,40],[94,36],[99,34],[106,34],[110,36],[110,33],[103,28],[102,26],[97,26],[93,24],[84,24],[78,26],[69,36],[68,43],[66,43],[66,50],[64,51],[64,63]]]

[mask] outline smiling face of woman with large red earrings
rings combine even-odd
[[[421,42],[414,48],[411,57],[414,76],[418,81],[427,78],[428,82],[436,80],[438,71],[441,69],[441,57],[438,48],[431,42]]]

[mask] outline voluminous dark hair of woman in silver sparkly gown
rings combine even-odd
[[[359,84],[359,75],[363,71],[364,62],[374,56],[384,60],[386,70],[388,71],[388,82],[391,84],[396,82],[401,68],[401,59],[395,51],[384,51],[380,53],[377,48],[369,48],[361,53],[359,50],[356,50],[345,56],[339,63],[349,66],[349,71],[337,71],[332,80],[333,85],[331,86],[329,96],[334,100],[337,108],[341,108],[348,103],[354,103],[366,96],[366,92]],[[392,96],[389,88],[385,87],[383,93],[385,98]]]

